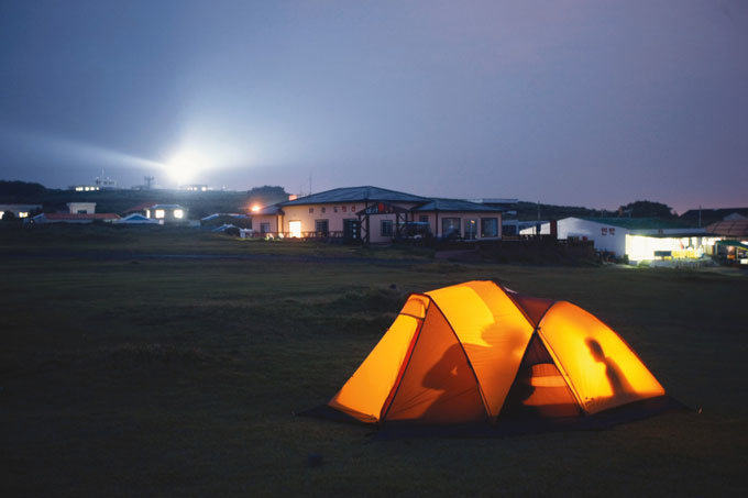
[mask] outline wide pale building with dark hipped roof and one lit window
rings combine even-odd
[[[501,239],[502,209],[458,199],[431,199],[378,187],[327,190],[254,210],[257,233],[341,237],[371,243],[430,234]]]

